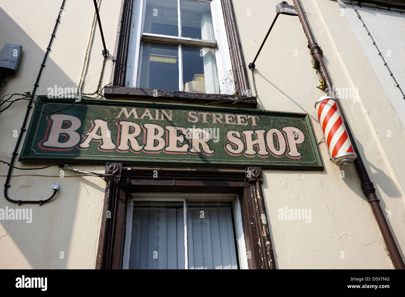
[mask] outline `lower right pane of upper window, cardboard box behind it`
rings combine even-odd
[[[183,46],[184,91],[219,94],[217,62],[213,48]]]

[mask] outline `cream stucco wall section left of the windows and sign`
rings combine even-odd
[[[1,90],[2,96],[32,91],[61,4],[62,1],[56,0],[0,2],[0,40],[3,44],[8,42],[23,46],[17,74],[7,79],[8,84]],[[120,1],[117,0],[100,1],[104,37],[111,51],[117,34],[119,7]],[[47,89],[54,85],[78,86],[94,14],[92,1],[66,1],[36,95],[47,94]],[[82,93],[96,91],[102,67],[102,42],[97,25],[94,34]],[[111,59],[107,59],[103,86],[109,82]],[[26,107],[27,101],[19,101],[0,114],[0,152],[3,160],[9,161],[11,158],[17,140],[13,138],[13,130],[20,130]],[[15,162],[14,165],[40,167],[45,164]],[[0,166],[4,184],[8,166]],[[102,165],[75,167],[104,173]],[[60,178],[57,166],[37,171],[13,170],[12,175],[8,191],[12,199],[46,199],[52,194],[51,184],[56,182],[62,184],[62,190],[43,206],[17,206],[7,202],[4,197],[0,199],[0,208],[32,208],[33,217],[32,223],[0,220],[0,267],[94,268],[105,182],[100,178],[80,177],[69,171],[65,171],[64,178]],[[64,252],[64,259],[60,258],[61,251]]]

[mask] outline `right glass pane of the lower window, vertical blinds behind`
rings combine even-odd
[[[199,204],[187,208],[189,268],[238,269],[230,203]]]

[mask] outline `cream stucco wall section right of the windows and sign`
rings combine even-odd
[[[277,2],[234,1],[247,63],[273,20]],[[359,88],[358,101],[344,99],[341,103],[382,209],[392,213],[388,224],[403,257],[403,128],[350,25],[340,15],[339,4],[301,2],[335,86]],[[315,87],[319,76],[312,68],[307,44],[298,17],[281,15],[256,61],[254,75],[261,108],[308,113],[321,141],[314,103],[324,92]],[[396,136],[386,137],[388,129]],[[265,171],[264,196],[277,268],[393,268],[354,167],[339,169],[328,160],[323,143],[319,149],[325,165],[322,173]],[[277,219],[277,210],[285,206],[311,209],[311,223]]]

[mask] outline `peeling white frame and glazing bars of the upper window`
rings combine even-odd
[[[188,0],[208,2],[211,5],[212,25],[214,28],[215,41],[198,40],[193,38],[166,36],[160,34],[143,33],[143,22],[146,9],[146,0],[133,0],[130,38],[128,44],[128,58],[126,67],[125,86],[139,88],[140,71],[143,51],[143,40],[172,42],[178,44],[179,50],[179,91],[184,91],[183,65],[181,57],[181,44],[205,46],[215,49],[217,72],[220,86],[220,94],[233,95],[236,92],[235,80],[232,71],[228,39],[224,23],[224,15],[220,0]],[[181,31],[180,0],[177,0],[177,15],[179,31]],[[181,32],[180,32],[181,33]],[[179,34],[181,35],[181,34]]]

